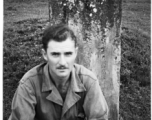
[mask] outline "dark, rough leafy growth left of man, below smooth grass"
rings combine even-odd
[[[4,119],[10,114],[18,81],[26,71],[43,61],[40,52],[43,24],[37,19],[25,20],[4,31]]]

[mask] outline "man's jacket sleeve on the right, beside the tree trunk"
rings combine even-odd
[[[87,120],[108,120],[108,105],[98,80],[94,81],[88,89],[83,107]]]

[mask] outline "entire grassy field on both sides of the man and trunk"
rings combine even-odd
[[[150,0],[123,0],[121,120],[150,120]],[[11,112],[18,81],[41,63],[41,35],[48,24],[46,0],[4,1],[3,120]]]

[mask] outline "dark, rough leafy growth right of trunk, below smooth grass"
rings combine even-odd
[[[150,38],[124,30],[121,40],[120,115],[124,120],[150,120]]]

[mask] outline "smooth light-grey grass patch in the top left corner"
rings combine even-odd
[[[48,20],[47,2],[4,2],[4,29],[14,26],[14,22],[26,19]]]

